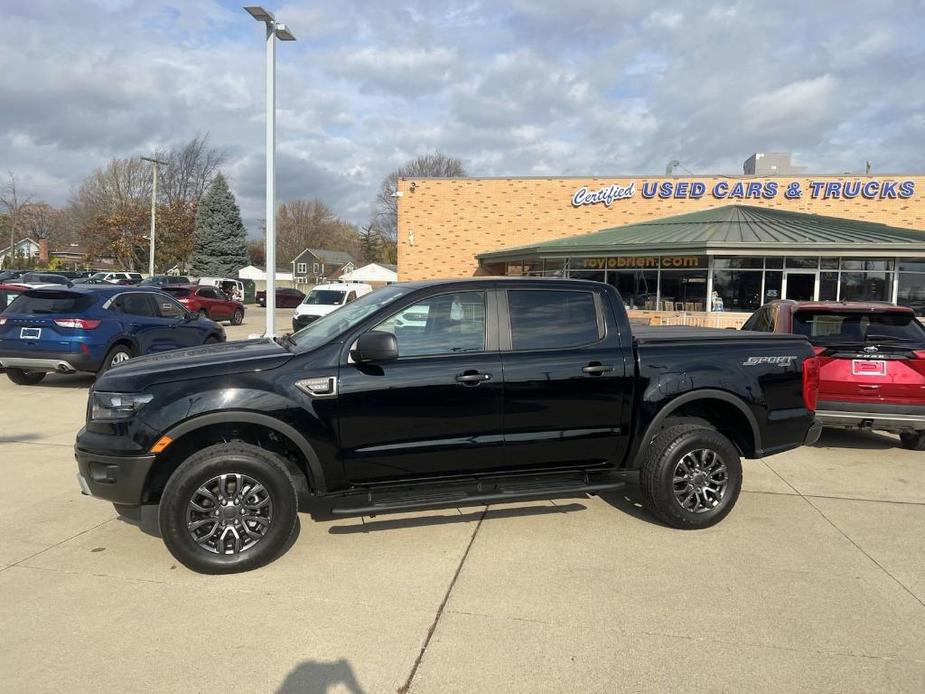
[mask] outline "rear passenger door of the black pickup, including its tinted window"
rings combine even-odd
[[[584,288],[509,289],[499,305],[506,465],[621,460],[633,368],[624,361],[607,295]]]

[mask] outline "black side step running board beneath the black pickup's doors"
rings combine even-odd
[[[584,481],[573,484],[562,482],[555,483],[550,480],[538,482],[534,480],[525,481],[525,483],[513,482],[510,486],[492,485],[494,490],[491,492],[481,491],[480,489],[406,489],[403,493],[394,491],[382,491],[380,498],[375,498],[375,492],[370,491],[364,496],[365,506],[335,506],[331,513],[338,516],[354,514],[376,514],[385,511],[402,511],[408,509],[435,508],[440,506],[455,506],[457,504],[470,503],[499,503],[512,501],[514,499],[525,499],[531,497],[553,497],[563,494],[584,494],[622,489],[626,483],[622,480],[613,480],[607,482],[598,482],[588,484]]]

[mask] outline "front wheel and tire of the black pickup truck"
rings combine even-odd
[[[222,475],[230,476],[224,493]],[[245,489],[243,499],[235,496],[238,481]],[[252,497],[258,485],[263,491]],[[218,505],[222,498],[231,503]],[[295,485],[279,457],[232,441],[198,451],[177,468],[161,496],[158,520],[164,544],[177,561],[199,573],[229,574],[276,559],[293,532],[297,509]],[[198,526],[191,529],[188,523]]]

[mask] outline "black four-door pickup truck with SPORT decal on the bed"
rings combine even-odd
[[[171,553],[206,573],[263,565],[299,501],[335,514],[617,489],[677,528],[732,510],[741,457],[818,437],[803,337],[635,334],[596,282],[396,284],[294,335],[132,359],[90,392],[84,493],[159,504]]]

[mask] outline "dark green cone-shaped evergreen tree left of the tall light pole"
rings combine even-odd
[[[196,210],[196,243],[190,271],[197,277],[237,277],[250,263],[247,231],[225,177],[218,174]]]

